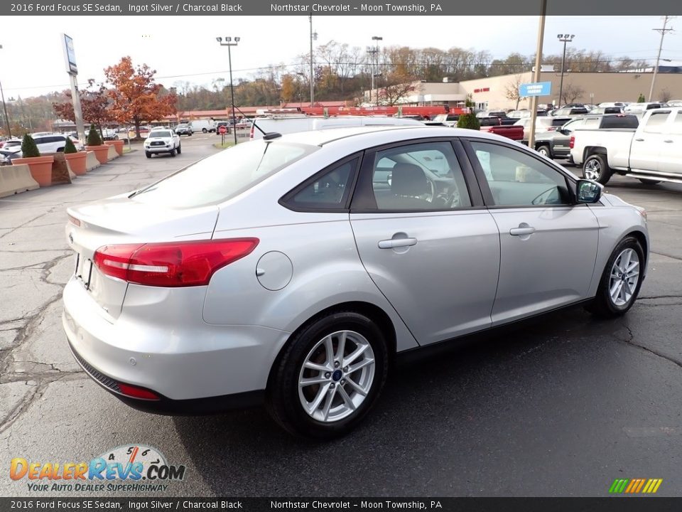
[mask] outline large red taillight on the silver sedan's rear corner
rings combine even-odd
[[[94,253],[102,274],[156,287],[205,286],[212,275],[249,255],[258,238],[104,245]]]

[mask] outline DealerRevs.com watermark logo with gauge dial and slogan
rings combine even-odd
[[[168,464],[158,449],[125,444],[107,450],[90,462],[10,462],[12,480],[28,480],[28,491],[158,491],[185,478],[183,465]]]

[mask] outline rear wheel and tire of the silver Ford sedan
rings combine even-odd
[[[388,373],[381,329],[355,311],[313,319],[288,343],[271,371],[266,406],[291,434],[332,439],[362,421]]]

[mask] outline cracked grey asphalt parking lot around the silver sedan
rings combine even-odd
[[[264,410],[147,415],[104,392],[61,327],[65,208],[156,180],[219,139],[183,137],[175,158],[138,150],[70,186],[0,199],[1,496],[59,494],[7,478],[13,457],[82,462],[133,444],[187,466],[163,496],[607,496],[619,478],[661,478],[659,495],[682,496],[679,185],[607,186],[649,212],[649,275],[627,316],[562,311],[402,364],[344,439],[293,439]]]

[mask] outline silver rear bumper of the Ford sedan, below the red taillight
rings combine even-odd
[[[144,304],[135,292],[129,288],[114,319],[77,279],[70,279],[64,289],[62,323],[71,351],[100,385],[133,407],[173,413],[185,408],[222,410],[262,394],[289,333],[206,324],[201,317],[202,287],[151,290],[161,298],[156,304],[148,290],[143,291]],[[162,399],[151,403],[126,398],[116,383],[151,390]],[[248,394],[227,396],[242,393]]]

